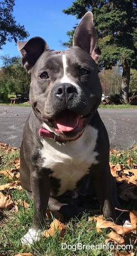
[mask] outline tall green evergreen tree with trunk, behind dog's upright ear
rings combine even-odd
[[[137,69],[137,2],[131,0],[76,0],[72,6],[63,10],[66,14],[81,18],[92,11],[94,23],[99,35],[99,47],[102,52],[101,68],[111,69],[121,62],[123,69],[121,83],[121,101],[128,102],[130,68]],[[72,44],[73,31],[68,46]]]

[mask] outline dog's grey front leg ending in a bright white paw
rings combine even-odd
[[[31,188],[34,201],[33,225],[21,239],[22,244],[32,244],[34,241],[39,241],[42,234],[42,224],[44,223],[50,193],[50,178],[46,169],[41,172],[33,170],[31,173]]]

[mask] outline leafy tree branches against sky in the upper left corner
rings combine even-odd
[[[16,24],[15,17],[13,16],[13,7],[15,0],[2,0],[0,1],[0,49],[6,44],[6,40],[22,40],[29,36],[25,31],[24,26]]]

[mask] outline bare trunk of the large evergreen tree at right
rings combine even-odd
[[[129,81],[130,81],[130,67],[128,66],[127,60],[124,59],[121,92],[120,92],[120,100],[121,100],[121,103],[124,103],[124,104],[128,103]]]

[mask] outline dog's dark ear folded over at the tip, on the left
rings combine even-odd
[[[17,46],[22,55],[22,64],[29,73],[44,50],[49,49],[41,37],[33,37],[25,42],[18,41]]]

